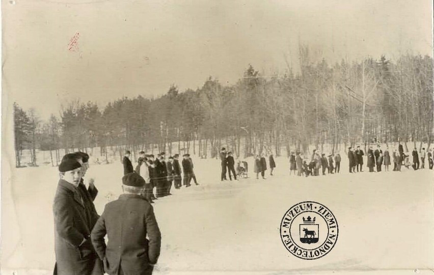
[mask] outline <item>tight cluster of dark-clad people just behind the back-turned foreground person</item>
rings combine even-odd
[[[122,160],[124,167],[124,175],[129,173],[137,173],[145,180],[145,188],[143,191],[143,197],[150,203],[157,198],[166,197],[172,195],[170,190],[172,184],[176,189],[191,186],[191,181],[199,185],[194,173],[193,160],[189,154],[184,154],[182,157],[181,165],[179,164],[179,154],[174,154],[168,157],[166,161],[166,153],[161,152],[155,157],[152,154],[145,154],[141,151],[139,153],[138,164],[133,169],[130,151],[125,152],[125,156]],[[182,174],[182,176],[181,176]],[[155,195],[154,195],[155,189]]]

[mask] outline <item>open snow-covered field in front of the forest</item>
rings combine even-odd
[[[278,157],[275,175],[267,171],[266,180],[255,179],[249,158],[250,178],[225,182],[219,160],[193,158],[200,185],[173,189],[173,196],[153,205],[162,233],[154,273],[360,274],[393,268],[382,274],[432,274],[432,170],[350,175],[342,157],[341,174],[308,178],[289,176],[288,159]],[[13,173],[13,184],[2,184],[2,274],[52,274],[57,168]],[[101,213],[121,194],[122,165],[91,166],[91,177]],[[279,235],[284,213],[302,201],[324,204],[339,224],[335,248],[313,261],[290,255]]]

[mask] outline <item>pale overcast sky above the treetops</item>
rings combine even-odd
[[[3,93],[43,119],[72,99],[103,106],[172,83],[196,89],[209,75],[233,84],[249,64],[283,73],[285,56],[298,65],[299,41],[332,62],[433,50],[429,0],[11,1]]]

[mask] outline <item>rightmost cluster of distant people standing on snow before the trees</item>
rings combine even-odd
[[[357,149],[349,147],[348,148],[348,162],[349,162],[349,173],[355,173],[356,170],[359,172],[363,172],[363,150],[360,149],[360,146],[357,146]],[[393,161],[393,171],[401,171],[401,167],[405,166],[407,169],[412,167],[414,170],[424,169],[425,168],[425,157],[428,156],[428,168],[432,170],[434,165],[432,159],[432,149],[426,152],[425,148],[422,148],[420,152],[415,148],[412,152],[413,164],[410,162],[410,154],[408,152],[404,153],[404,149],[402,144],[398,145],[398,148],[394,149],[392,152],[392,159],[389,153],[389,147],[386,149],[381,149],[381,145],[377,145],[375,151],[372,149],[372,146],[369,146],[369,150],[367,152],[367,167],[369,168],[369,172],[374,172],[374,167],[376,168],[376,172],[382,171],[382,166],[385,166],[385,171],[389,171],[389,166],[391,165],[391,160]]]

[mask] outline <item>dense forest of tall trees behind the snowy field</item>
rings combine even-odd
[[[301,46],[300,68],[284,75],[262,75],[249,65],[228,86],[209,77],[197,90],[172,85],[159,98],[120,98],[103,108],[75,101],[48,121],[14,103],[16,166],[24,149],[34,165],[35,150],[49,150],[56,165],[60,149],[99,147],[105,159],[109,147],[120,155],[129,149],[133,156],[155,150],[206,158],[222,146],[246,157],[264,150],[287,154],[285,148],[306,152],[308,145],[330,144],[333,151],[342,143],[434,141],[431,57],[329,64],[310,56]]]

